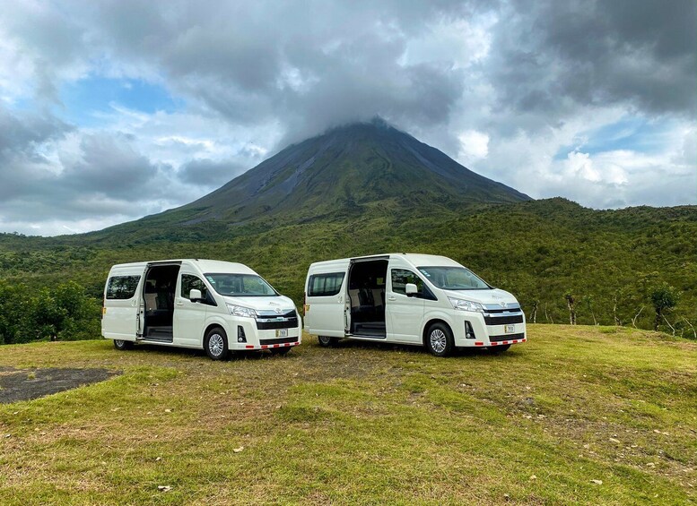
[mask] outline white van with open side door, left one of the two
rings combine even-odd
[[[167,260],[115,265],[104,287],[101,334],[118,349],[135,342],[284,355],[301,344],[295,304],[246,265]]]

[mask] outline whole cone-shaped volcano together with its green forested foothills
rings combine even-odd
[[[569,294],[580,323],[650,329],[650,295],[667,286],[679,299],[661,329],[697,338],[696,236],[696,206],[532,201],[376,121],[292,145],[176,210],[83,235],[2,234],[0,291],[74,280],[100,299],[114,263],[193,257],[247,263],[301,305],[311,262],[438,253],[510,290],[536,322],[569,322]]]

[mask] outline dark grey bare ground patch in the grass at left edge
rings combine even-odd
[[[13,369],[0,367],[0,404],[38,399],[121,374],[109,369]]]

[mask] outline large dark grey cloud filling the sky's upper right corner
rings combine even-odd
[[[498,107],[562,115],[624,104],[693,117],[697,4],[639,0],[515,2],[494,27],[487,62]]]

